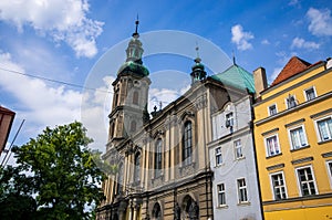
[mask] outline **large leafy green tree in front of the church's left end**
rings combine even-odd
[[[35,197],[35,218],[89,219],[89,207],[104,198],[98,188],[104,174],[93,161],[90,143],[86,129],[74,122],[46,127],[35,139],[12,149],[18,163],[14,169],[24,177],[13,178],[18,180],[13,185],[20,188],[19,195]]]

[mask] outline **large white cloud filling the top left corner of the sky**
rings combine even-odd
[[[97,53],[95,39],[103,22],[89,19],[86,0],[17,0],[0,1],[0,20],[12,22],[20,32],[32,27],[55,42],[64,41],[76,56],[92,57]]]

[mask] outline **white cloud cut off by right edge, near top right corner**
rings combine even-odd
[[[329,9],[318,10],[310,8],[307,17],[310,20],[308,29],[313,35],[332,35],[332,17]]]

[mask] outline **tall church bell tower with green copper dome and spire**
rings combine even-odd
[[[143,65],[143,48],[139,41],[138,20],[136,29],[126,49],[126,61],[118,69],[110,117],[108,145],[116,146],[123,139],[134,135],[149,119],[147,112],[149,72]]]

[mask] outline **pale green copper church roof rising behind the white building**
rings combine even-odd
[[[240,90],[248,88],[250,93],[255,93],[252,74],[237,64],[234,64],[222,73],[217,73],[210,77],[220,81],[226,85],[230,85]]]

